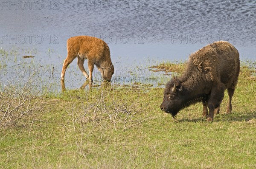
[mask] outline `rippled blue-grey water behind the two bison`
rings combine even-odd
[[[0,78],[6,82],[23,71],[22,78],[28,79],[36,72],[41,78],[39,86],[54,84],[60,90],[67,39],[90,35],[105,40],[111,49],[116,68],[113,83],[157,85],[170,77],[149,72],[149,66],[166,60],[185,61],[189,54],[217,40],[231,42],[241,60],[255,61],[255,18],[254,0],[1,0],[0,48],[12,54],[1,56]],[[23,59],[24,55],[35,57]],[[65,78],[67,88],[84,83],[76,61]],[[96,69],[93,78],[101,81]]]

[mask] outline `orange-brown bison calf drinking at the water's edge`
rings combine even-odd
[[[109,47],[106,42],[95,37],[78,36],[67,40],[67,58],[64,60],[61,79],[64,81],[67,66],[78,58],[77,65],[86,79],[93,82],[94,65],[100,70],[103,79],[110,81],[114,73]],[[88,60],[89,75],[84,69],[84,59]]]

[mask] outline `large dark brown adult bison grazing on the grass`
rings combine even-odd
[[[213,121],[227,89],[229,102],[226,113],[231,113],[239,70],[239,52],[233,45],[226,41],[209,44],[189,57],[180,77],[166,84],[160,109],[175,117],[184,107],[202,101],[203,117]]]

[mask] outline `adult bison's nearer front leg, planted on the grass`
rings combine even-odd
[[[209,114],[207,116],[207,121],[213,121],[214,111],[218,110],[222,99],[224,98],[225,85],[222,83],[215,84],[212,88],[211,96],[208,101]]]

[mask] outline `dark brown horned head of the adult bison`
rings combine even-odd
[[[182,86],[179,80],[172,79],[166,84],[160,109],[166,113],[172,114],[172,117],[175,117],[179,110],[183,108],[183,99]]]

